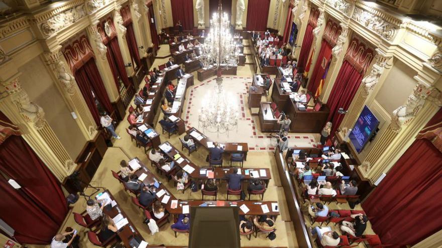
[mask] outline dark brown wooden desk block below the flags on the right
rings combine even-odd
[[[327,121],[330,109],[323,104],[319,111],[301,111],[295,101],[289,98],[284,112],[290,117],[290,132],[320,133]]]

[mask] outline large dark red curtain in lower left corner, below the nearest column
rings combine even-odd
[[[9,137],[0,157],[0,170],[22,187],[0,176],[0,217],[19,242],[48,244],[68,211],[59,182],[21,136]]]

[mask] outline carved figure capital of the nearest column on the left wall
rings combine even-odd
[[[2,84],[23,118],[32,123],[35,129],[40,130],[46,124],[45,113],[40,106],[29,100],[28,93],[20,85],[19,76],[17,75],[10,81],[2,82]]]

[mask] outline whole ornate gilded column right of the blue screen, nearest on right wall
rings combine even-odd
[[[428,76],[428,75],[427,75]],[[391,123],[382,133],[365,158],[367,165],[363,171],[372,182],[388,172],[408,146],[414,141],[415,135],[438,111],[442,102],[440,92],[428,83],[421,75],[415,76],[417,85],[407,102],[393,111]]]

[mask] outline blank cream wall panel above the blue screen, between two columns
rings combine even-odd
[[[389,113],[404,104],[416,85],[413,77],[417,72],[411,70],[403,62],[397,60],[391,68],[375,99]],[[393,94],[394,93],[394,94]],[[394,95],[394,97],[392,97]]]

